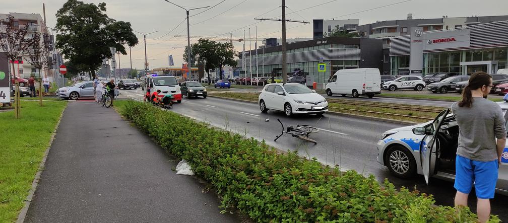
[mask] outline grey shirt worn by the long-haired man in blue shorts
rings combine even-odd
[[[459,124],[457,155],[474,161],[497,160],[496,138],[506,138],[505,120],[496,103],[473,98],[470,108],[452,105],[452,112]]]

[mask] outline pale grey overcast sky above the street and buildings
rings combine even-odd
[[[56,22],[56,11],[66,1],[67,0],[22,0],[22,3],[19,1],[2,1],[2,10],[0,13],[19,12],[40,13],[42,15],[42,4],[45,3],[48,26],[54,26]],[[163,0],[82,1],[94,4],[105,2],[107,14],[110,18],[131,22],[133,29],[141,33],[158,31],[157,33],[147,36],[148,58],[153,59],[149,60],[151,69],[168,67],[169,54],[173,55],[176,66],[181,65],[183,49],[173,49],[173,47],[184,47],[187,43],[186,38],[176,38],[173,36],[187,34],[186,22],[183,22],[171,33],[167,33],[184,20],[185,11],[183,9],[171,5]],[[288,19],[306,20],[311,23],[306,25],[302,25],[302,23],[288,23],[287,26],[290,29],[287,31],[287,37],[312,37],[312,19],[315,18],[330,19],[332,17],[337,17],[336,19],[360,19],[360,24],[366,24],[377,20],[405,19],[407,17],[407,13],[412,13],[413,18],[415,19],[441,18],[443,15],[448,15],[448,17],[463,17],[471,15],[489,16],[508,14],[506,11],[506,9],[508,9],[508,1],[506,0],[490,0],[485,2],[472,0],[411,0],[384,8],[360,12],[402,1],[404,0],[288,0],[286,1],[286,5],[288,7],[287,13],[323,3],[326,4],[289,14],[287,16]],[[173,0],[172,2],[184,7],[197,8],[203,6],[214,6],[222,2],[222,0]],[[260,15],[261,17],[268,18],[279,16],[281,12],[280,8],[277,9],[278,6],[280,6],[280,1],[277,0],[226,0],[216,7],[196,16],[192,15],[202,12],[203,10],[193,10],[190,11],[190,15],[192,17],[189,19],[190,35],[222,35],[223,37],[229,38],[229,33],[231,32],[233,34],[233,38],[243,38],[243,30],[245,29],[245,34],[248,38],[248,31],[250,27],[250,34],[252,38],[254,38],[256,34],[255,26],[257,25],[258,39],[270,37],[280,38],[282,35],[280,31],[280,22],[263,21],[257,24],[252,24],[258,22],[258,20],[254,20],[254,18]],[[344,16],[351,13],[355,14]],[[243,26],[247,27],[241,28]],[[164,35],[166,36],[162,37]],[[139,34],[137,34],[137,36],[140,41],[139,44],[132,49],[132,66],[133,68],[143,69],[144,61],[141,60],[144,59],[143,36]],[[191,43],[195,41],[197,41],[197,39],[191,39]],[[234,45],[238,51],[242,50],[242,43],[234,42]],[[258,45],[261,45],[261,41],[258,41]],[[254,42],[251,43],[251,47],[252,49],[254,48]],[[247,41],[246,50],[248,49],[249,42]],[[120,66],[130,67],[129,54],[121,55]]]

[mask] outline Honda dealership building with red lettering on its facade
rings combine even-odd
[[[390,39],[392,75],[477,71],[508,68],[508,21],[423,31]]]

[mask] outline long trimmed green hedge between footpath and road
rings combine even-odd
[[[432,196],[323,167],[295,152],[281,154],[263,142],[146,103],[126,103],[121,113],[210,182],[224,211],[237,208],[259,222],[474,222],[477,217],[467,208],[433,206]]]

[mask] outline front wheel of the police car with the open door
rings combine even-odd
[[[385,165],[390,172],[400,178],[410,178],[416,173],[415,157],[405,147],[394,145],[385,155]]]

